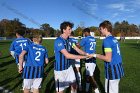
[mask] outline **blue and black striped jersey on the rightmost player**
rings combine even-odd
[[[109,35],[103,40],[103,53],[112,52],[111,62],[105,61],[105,76],[109,80],[120,79],[124,76],[120,45],[116,38]]]

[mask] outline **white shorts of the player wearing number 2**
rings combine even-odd
[[[23,80],[23,89],[39,89],[41,88],[42,78],[35,78],[35,79],[24,79]]]

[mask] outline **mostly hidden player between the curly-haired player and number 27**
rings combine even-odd
[[[78,39],[74,38],[73,31],[71,32],[69,40],[70,40],[71,44],[75,44],[77,47],[79,46]],[[75,55],[79,55],[79,53],[74,48],[71,49],[70,53],[75,54]],[[71,60],[71,62],[72,62],[72,65],[74,67],[76,79],[78,81],[78,88],[81,91],[82,87],[81,87],[81,74],[80,74],[80,59],[74,59],[74,60]]]

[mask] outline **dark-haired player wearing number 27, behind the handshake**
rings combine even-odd
[[[96,40],[93,36],[90,35],[90,29],[85,28],[83,30],[83,38],[80,42],[80,46],[84,48],[84,51],[88,54],[95,53],[96,50]],[[95,58],[87,58],[85,60],[85,68],[86,68],[86,92],[89,91],[90,84],[93,86],[95,93],[99,93],[97,88],[96,81],[93,78],[93,73],[96,67],[96,59]]]

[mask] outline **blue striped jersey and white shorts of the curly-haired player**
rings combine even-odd
[[[61,50],[66,49],[68,52],[71,50],[69,39],[65,40],[61,36],[55,40],[54,50],[55,50],[55,65],[54,65],[54,75],[55,75],[55,85],[56,91],[60,92],[67,88],[70,83],[76,81],[75,74],[72,66],[70,65],[70,59],[67,59]]]

